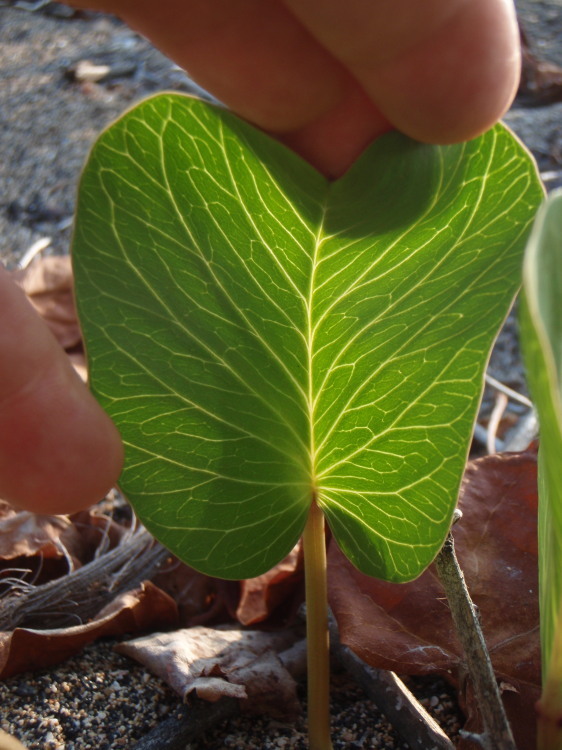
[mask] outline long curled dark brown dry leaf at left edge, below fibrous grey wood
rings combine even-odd
[[[97,638],[175,627],[177,620],[174,601],[147,581],[114,599],[85,625],[56,630],[16,628],[0,633],[0,679],[59,664]]]

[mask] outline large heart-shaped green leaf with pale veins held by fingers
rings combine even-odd
[[[141,520],[193,567],[245,578],[316,497],[362,571],[417,576],[540,198],[502,126],[448,147],[392,133],[330,183],[200,101],[126,114],[85,169],[74,264]]]

